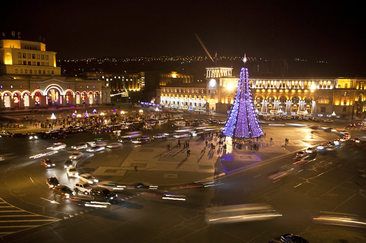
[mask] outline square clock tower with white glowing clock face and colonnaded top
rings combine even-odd
[[[206,68],[207,105],[206,111],[216,111],[217,103],[227,103],[225,87],[231,83],[231,67],[208,67]],[[229,103],[231,103],[229,101]]]

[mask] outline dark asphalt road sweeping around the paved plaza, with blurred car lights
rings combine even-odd
[[[273,129],[280,134],[286,128]],[[332,137],[332,134],[325,136]],[[365,189],[366,181],[357,172],[365,168],[365,147],[351,142],[333,151],[319,152],[301,164],[295,163],[294,154],[270,160],[224,176],[217,186],[170,188],[186,195],[186,201],[161,200],[144,190],[120,192],[120,200],[107,208],[85,206],[87,196],[82,194],[77,197],[81,200],[76,201],[55,198],[45,185],[45,178],[57,175],[63,184],[74,185],[78,179],[68,178],[63,168],[63,161],[72,152],[69,147],[96,137],[100,136],[82,133],[61,140],[68,147],[49,156],[56,162],[52,169],[40,166],[38,159],[29,157],[53,140],[1,140],[6,159],[0,162],[0,241],[268,242],[284,233],[304,232],[306,236],[306,232],[322,229],[347,230],[355,235],[365,233],[362,228],[312,222],[323,211],[366,218],[363,206],[366,199],[359,194]],[[291,141],[295,139],[290,137]],[[122,153],[123,149],[120,149]],[[280,171],[287,173],[271,177]],[[209,225],[204,220],[207,207],[258,202],[272,205],[283,216],[268,221],[219,225]],[[313,243],[326,242],[313,237],[308,235]]]

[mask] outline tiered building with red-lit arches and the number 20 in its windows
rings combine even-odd
[[[14,38],[13,33],[13,38]],[[110,103],[98,77],[62,77],[56,52],[42,42],[0,40],[0,110],[90,106]]]

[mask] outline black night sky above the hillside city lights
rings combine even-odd
[[[365,66],[365,15],[355,2],[35,0],[7,1],[1,9],[6,37],[11,30],[22,39],[42,36],[58,59],[205,56],[196,33],[212,56]]]

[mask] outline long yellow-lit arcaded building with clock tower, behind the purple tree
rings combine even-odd
[[[282,64],[279,64],[279,68]],[[206,68],[206,84],[166,85],[157,90],[160,105],[177,109],[227,113],[239,77],[231,67]],[[281,71],[282,72],[282,71]],[[254,77],[249,73],[254,107],[260,114],[312,115],[327,119],[365,117],[366,78]],[[184,107],[184,108],[183,108]]]

